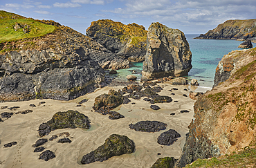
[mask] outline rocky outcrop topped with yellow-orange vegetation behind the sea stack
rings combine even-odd
[[[147,30],[138,24],[102,19],[93,21],[86,35],[102,44],[112,53],[129,62],[143,62],[146,54]]]

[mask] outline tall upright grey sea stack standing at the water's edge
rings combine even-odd
[[[191,51],[181,30],[152,23],[147,32],[147,53],[143,62],[142,80],[188,75],[192,68]]]

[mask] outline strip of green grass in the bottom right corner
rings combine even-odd
[[[194,167],[253,167],[256,166],[256,149],[246,147],[243,151],[232,153],[229,156],[219,158],[198,159],[192,165],[186,165],[186,168]]]

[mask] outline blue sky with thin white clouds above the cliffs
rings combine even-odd
[[[83,34],[98,19],[136,23],[146,30],[160,22],[185,34],[204,34],[228,19],[256,19],[255,0],[1,0],[0,10],[53,20]]]

